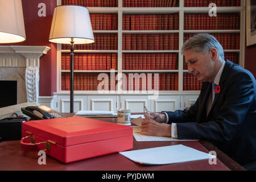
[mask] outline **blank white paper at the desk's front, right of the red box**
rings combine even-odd
[[[174,164],[193,160],[203,160],[216,158],[214,155],[195,150],[194,148],[177,144],[174,146],[164,146],[119,152],[119,154],[134,162],[147,165]]]

